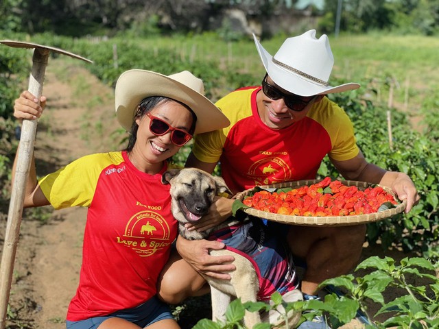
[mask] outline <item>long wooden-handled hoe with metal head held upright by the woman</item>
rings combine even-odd
[[[29,77],[28,90],[38,99],[38,101],[43,91],[44,75],[47,61],[49,60],[49,53],[51,51],[62,53],[73,58],[78,58],[86,62],[91,62],[91,60],[87,60],[86,58],[75,55],[74,53],[69,53],[58,48],[14,40],[0,40],[0,43],[15,48],[35,49],[34,56],[32,58],[32,72]],[[1,255],[0,329],[5,328],[5,319],[8,311],[8,301],[12,282],[12,272],[14,271],[16,247],[19,242],[21,217],[23,216],[25,186],[27,176],[29,175],[32,154],[34,154],[34,142],[37,125],[38,120],[23,120],[21,126],[19,154],[16,162],[16,170],[12,186],[3,254]]]

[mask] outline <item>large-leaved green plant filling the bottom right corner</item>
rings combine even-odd
[[[438,263],[425,258],[403,258],[400,265],[390,257],[372,256],[357,266],[359,269],[373,269],[365,276],[355,278],[352,274],[322,282],[321,286],[332,284],[346,291],[342,297],[331,294],[335,301],[349,298],[357,308],[368,315],[367,300],[381,305],[376,315],[390,314],[383,323],[372,321],[370,328],[438,328],[439,326],[439,278],[434,275]],[[424,280],[426,284],[412,284]],[[396,287],[405,291],[394,300],[386,301],[383,292]],[[325,298],[326,302],[327,298]],[[334,327],[333,327],[334,328]],[[337,327],[335,327],[337,328]]]

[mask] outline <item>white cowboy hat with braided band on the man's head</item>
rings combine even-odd
[[[355,83],[329,86],[334,58],[328,37],[324,34],[317,39],[315,29],[287,38],[274,56],[261,46],[254,34],[253,38],[265,71],[278,86],[290,93],[313,96],[359,88]]]

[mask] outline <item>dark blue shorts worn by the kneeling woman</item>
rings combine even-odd
[[[119,317],[137,324],[141,328],[150,326],[154,322],[164,319],[174,319],[169,306],[158,300],[156,296],[137,307],[127,308],[126,310],[118,310],[115,313],[103,317],[91,317],[80,321],[66,321],[67,329],[96,329],[102,322],[110,317]]]

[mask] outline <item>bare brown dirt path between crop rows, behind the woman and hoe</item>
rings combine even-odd
[[[121,136],[112,135],[119,127],[114,116],[113,90],[82,64],[49,60],[43,95],[48,97],[48,106],[40,119],[35,145],[40,175],[79,156],[121,148],[117,142]],[[49,208],[34,211],[23,213],[7,328],[65,328],[67,306],[78,284],[86,210],[71,208],[51,215]],[[0,221],[2,244],[5,226],[4,218]],[[363,258],[372,255],[396,260],[407,256],[398,251],[384,255],[377,247],[365,247]],[[387,297],[391,299],[392,295]],[[183,309],[180,325],[191,328],[189,321],[185,323],[184,313]],[[201,317],[209,317],[209,313],[209,309],[205,313],[197,310]],[[344,328],[361,326],[350,324]]]

